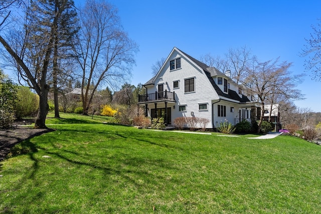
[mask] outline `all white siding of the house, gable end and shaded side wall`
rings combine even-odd
[[[181,58],[181,68],[170,70],[170,61],[177,58]],[[185,79],[190,78],[194,78],[195,91],[185,93]],[[226,76],[222,76],[222,78],[223,84],[218,86],[224,91],[224,78],[228,78],[226,78]],[[215,83],[217,83],[217,76],[213,77],[213,79]],[[179,81],[178,88],[174,88],[174,81]],[[238,92],[238,85],[235,82],[228,79],[228,83],[230,83],[231,90]],[[214,127],[217,127],[217,125],[226,120],[233,125],[239,122],[240,104],[222,99],[217,103],[219,96],[211,85],[208,77],[204,74],[204,71],[176,48],[173,49],[161,71],[157,74],[154,85],[146,86],[147,93],[155,93],[155,91],[158,90],[159,84],[164,85],[164,91],[175,92],[176,103],[168,102],[167,105],[168,108],[171,108],[172,124],[177,117],[191,117],[192,112],[193,116],[197,118],[207,118],[209,120],[207,128],[213,128],[213,124]],[[241,97],[241,95],[239,96]],[[207,104],[207,109],[199,110],[199,104]],[[186,111],[179,111],[179,106],[182,105],[186,106]],[[226,117],[218,117],[218,105],[226,106]],[[150,116],[151,109],[154,108],[154,103],[148,103],[147,107],[148,116]],[[212,107],[214,109],[212,109]],[[231,112],[231,107],[234,108],[234,112]],[[157,102],[157,108],[165,108],[165,102]],[[197,127],[201,127],[201,124],[198,124]]]

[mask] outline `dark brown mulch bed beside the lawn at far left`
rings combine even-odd
[[[34,120],[23,119],[15,121],[13,128],[8,130],[0,130],[0,161],[4,160],[10,149],[17,143],[39,136],[43,133],[54,131],[53,129],[34,129],[30,126],[18,126],[28,125],[34,123]]]

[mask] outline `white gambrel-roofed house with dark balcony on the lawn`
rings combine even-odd
[[[256,102],[244,95],[229,71],[223,74],[176,47],[143,86],[146,94],[139,95],[138,105],[145,106],[146,116],[164,116],[167,125],[177,117],[198,117],[210,121],[207,128],[215,128],[225,120],[236,124],[256,115]]]

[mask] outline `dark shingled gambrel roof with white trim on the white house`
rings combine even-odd
[[[215,91],[217,92],[217,94],[221,97],[221,98],[228,98],[228,99],[232,99],[232,100],[236,100],[239,101],[240,103],[245,103],[245,102],[251,102],[247,96],[242,95],[242,97],[239,97],[239,95],[231,90],[228,89],[228,94],[224,93],[220,87],[215,83],[215,81],[213,80],[212,76],[225,76],[226,78],[228,78],[229,80],[232,80],[231,78],[227,77],[225,74],[223,74],[222,72],[220,72],[219,70],[217,70],[214,67],[210,67],[202,62],[200,62],[199,60],[195,59],[194,57],[191,57],[190,55],[186,54],[185,52],[181,51],[180,49],[174,47],[174,49],[172,50],[172,52],[174,50],[178,50],[179,52],[181,52],[182,54],[184,54],[188,59],[190,59],[192,62],[194,62],[196,65],[198,65],[203,71],[204,74],[206,75],[206,77],[208,78],[208,80],[210,81],[211,85],[213,86],[213,88],[215,89]],[[172,54],[171,52],[171,54]],[[171,56],[171,54],[168,56],[168,58]],[[165,62],[168,61],[168,58],[166,59]],[[159,70],[159,72],[163,69],[165,63],[163,64],[162,68]],[[154,81],[157,77],[157,75],[159,74],[159,72],[152,77],[150,80],[148,80],[145,84],[143,84],[144,86],[146,85],[153,85]]]

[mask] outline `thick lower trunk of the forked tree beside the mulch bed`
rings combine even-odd
[[[49,88],[46,87],[46,89],[42,90],[42,93],[39,96],[39,110],[38,110],[34,128],[47,128],[45,122],[46,122],[46,117],[49,110],[48,92],[49,92]]]

